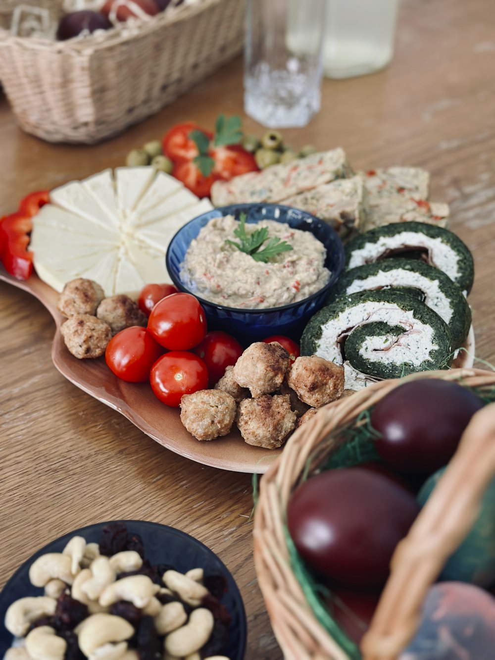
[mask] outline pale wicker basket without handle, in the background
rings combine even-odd
[[[3,21],[13,4],[7,0]],[[51,0],[49,11],[56,20],[61,0]],[[66,42],[12,36],[0,27],[0,80],[24,131],[49,142],[96,143],[232,59],[243,37],[240,0],[170,7],[150,20]]]

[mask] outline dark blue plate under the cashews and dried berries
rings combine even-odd
[[[172,564],[181,573],[185,573],[190,568],[201,567],[207,574],[224,576],[227,581],[227,591],[221,602],[228,609],[232,620],[229,630],[230,642],[228,647],[222,650],[222,654],[230,660],[242,660],[246,651],[246,612],[234,578],[216,554],[197,539],[174,527],[142,520],[112,522],[123,522],[127,525],[127,531],[141,536],[145,546],[145,557],[151,564]],[[13,639],[3,625],[9,605],[24,596],[43,595],[43,589],[33,587],[29,581],[29,568],[34,560],[46,552],[61,552],[67,542],[76,535],[84,537],[87,543],[98,543],[102,528],[108,524],[108,522],[97,523],[65,534],[38,550],[16,570],[0,592],[0,659],[11,646]]]

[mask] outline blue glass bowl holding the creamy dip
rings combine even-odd
[[[259,220],[286,222],[294,229],[311,232],[327,248],[325,267],[331,271],[329,282],[319,291],[304,300],[282,307],[264,310],[246,310],[218,305],[200,296],[196,296],[180,279],[180,265],[187,248],[199,230],[211,220],[224,215],[233,215],[239,219],[246,214],[246,222],[254,224]],[[344,246],[337,233],[323,220],[314,215],[279,204],[232,204],[219,207],[193,218],[172,238],[165,257],[166,267],[176,287],[185,293],[197,297],[207,315],[209,330],[223,330],[237,337],[242,343],[249,344],[270,335],[287,335],[299,341],[306,323],[325,302],[333,284],[341,274],[345,264]]]

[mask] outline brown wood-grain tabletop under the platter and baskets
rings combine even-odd
[[[1,211],[22,195],[123,164],[129,149],[193,119],[242,113],[242,60],[176,103],[96,147],[49,145],[22,133],[0,101]],[[249,132],[263,129],[244,119]],[[341,145],[354,168],[422,166],[432,199],[475,255],[476,354],[495,363],[495,39],[492,0],[405,0],[392,65],[376,75],[325,80],[323,110],[296,147]],[[29,294],[0,282],[0,584],[49,540],[115,518],[172,525],[226,563],[248,616],[249,660],[279,659],[252,561],[251,476],[171,453],[53,367],[54,324]]]

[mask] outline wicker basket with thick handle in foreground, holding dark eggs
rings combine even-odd
[[[347,660],[348,654],[320,624],[290,564],[285,536],[292,490],[312,475],[345,440],[339,430],[413,378],[442,378],[471,387],[495,385],[495,372],[453,369],[388,380],[331,403],[291,436],[261,479],[254,518],[254,560],[275,636],[286,660]],[[331,436],[329,436],[331,434]],[[414,635],[430,585],[469,531],[482,492],[495,475],[495,404],[466,430],[442,482],[395,551],[391,575],[360,650],[364,660],[395,660]]]

